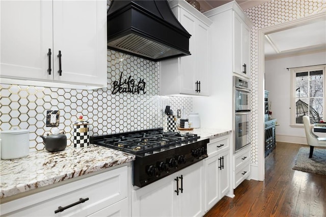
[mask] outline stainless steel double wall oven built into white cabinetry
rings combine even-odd
[[[234,152],[251,143],[250,139],[250,83],[233,76]]]

